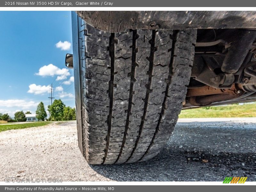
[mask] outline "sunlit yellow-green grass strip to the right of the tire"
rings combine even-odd
[[[256,103],[182,110],[179,118],[256,117]]]

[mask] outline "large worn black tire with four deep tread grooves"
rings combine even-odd
[[[196,30],[108,33],[78,19],[78,130],[89,164],[141,162],[160,152],[185,100],[195,43]]]

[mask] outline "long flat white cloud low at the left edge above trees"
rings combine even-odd
[[[0,100],[0,107],[17,107],[22,109],[29,109],[31,107],[36,107],[38,103],[35,101],[28,100]]]

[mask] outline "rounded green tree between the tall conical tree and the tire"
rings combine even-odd
[[[62,120],[65,107],[66,105],[60,99],[54,100],[52,105],[48,106],[48,111],[54,119],[54,121]]]

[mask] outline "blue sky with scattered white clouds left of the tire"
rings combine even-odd
[[[65,67],[72,53],[71,12],[0,12],[0,113],[36,111],[38,102],[54,97],[75,106],[73,70]]]

